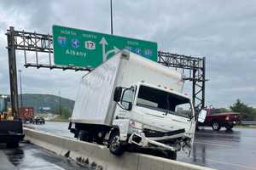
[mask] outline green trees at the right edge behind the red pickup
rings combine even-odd
[[[230,106],[230,109],[240,112],[243,121],[256,121],[256,109],[244,104],[240,99],[237,99],[236,103]]]

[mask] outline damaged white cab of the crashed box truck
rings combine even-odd
[[[118,105],[113,126],[119,129],[121,143],[171,150],[172,157],[177,150],[191,149],[195,112],[188,96],[138,82],[130,88],[117,87],[113,99]]]

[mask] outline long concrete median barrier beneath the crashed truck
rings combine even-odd
[[[156,156],[125,152],[113,156],[106,146],[81,142],[77,139],[56,136],[24,128],[26,140],[58,155],[67,156],[84,165],[102,170],[202,170],[210,168],[172,161]]]

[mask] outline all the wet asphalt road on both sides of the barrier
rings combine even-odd
[[[28,125],[48,133],[73,138],[67,122],[46,122]],[[233,131],[212,131],[204,127],[196,132],[194,149],[188,154],[179,152],[178,161],[216,169],[256,170],[256,129],[234,128]],[[18,149],[0,145],[0,170],[5,169],[89,169],[56,156],[33,144],[21,143]]]

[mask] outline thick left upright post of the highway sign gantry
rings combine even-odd
[[[7,33],[8,42],[8,58],[9,58],[9,84],[10,97],[12,104],[13,116],[18,117],[18,88],[17,88],[17,68],[16,68],[16,54],[15,54],[15,27],[10,26]]]

